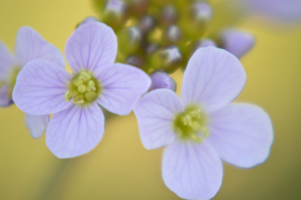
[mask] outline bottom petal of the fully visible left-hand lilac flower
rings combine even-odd
[[[73,158],[91,151],[103,134],[104,115],[96,102],[71,105],[50,119],[46,145],[58,158]]]

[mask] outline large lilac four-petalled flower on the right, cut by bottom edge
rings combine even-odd
[[[222,160],[242,168],[264,162],[273,141],[268,115],[231,103],[246,82],[239,60],[225,50],[197,50],[184,72],[182,100],[157,89],[134,109],[146,149],[167,145],[162,161],[166,186],[179,197],[207,200],[218,192]]]

